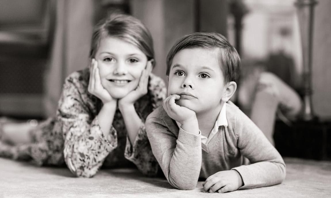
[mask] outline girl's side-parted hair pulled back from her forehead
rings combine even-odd
[[[94,28],[90,58],[95,57],[103,38],[115,37],[138,47],[148,60],[154,59],[153,39],[149,30],[137,18],[125,14],[112,14]],[[153,61],[153,67],[155,60]]]

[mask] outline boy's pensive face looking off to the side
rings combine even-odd
[[[226,89],[218,59],[219,49],[182,49],[172,60],[168,94],[180,95],[176,104],[195,113],[221,105]]]

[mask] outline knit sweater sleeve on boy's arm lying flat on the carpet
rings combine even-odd
[[[281,183],[286,175],[285,163],[262,131],[243,113],[236,117],[234,130],[240,152],[251,163],[233,168],[239,172],[244,182],[239,189]]]

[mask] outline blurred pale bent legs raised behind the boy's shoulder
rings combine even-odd
[[[275,74],[267,72],[262,61],[256,60],[242,60],[238,87],[238,105],[274,145],[275,120],[279,118],[291,124],[301,113],[299,94]]]

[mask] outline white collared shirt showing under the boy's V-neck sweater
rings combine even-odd
[[[181,127],[181,123],[177,122],[177,126]],[[214,135],[217,133],[218,128],[220,126],[228,126],[228,122],[226,119],[226,104],[223,104],[223,107],[221,109],[221,111],[218,114],[218,117],[216,119],[216,122],[214,124],[214,127],[212,129],[212,131],[210,132],[208,138],[206,136],[201,135],[201,143],[208,145],[208,143],[210,142],[210,140],[214,137]],[[199,130],[199,135],[201,134],[201,131]]]

